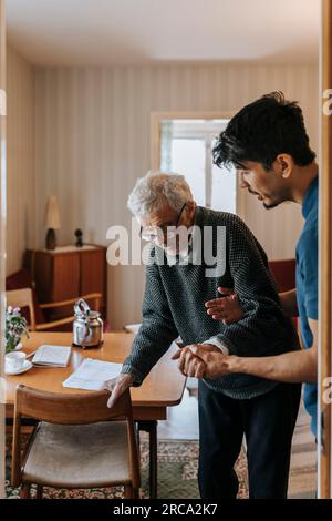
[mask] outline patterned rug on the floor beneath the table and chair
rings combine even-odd
[[[8,499],[19,499],[19,490],[10,486],[11,437],[7,438],[7,480]],[[160,499],[197,499],[198,441],[159,440],[158,442],[158,497]],[[141,498],[148,498],[148,443],[141,441],[142,488]],[[242,451],[236,464],[240,481],[239,498],[248,497],[247,458]],[[31,492],[34,496],[34,488]],[[89,490],[64,490],[44,488],[45,499],[114,499],[123,498],[122,487]]]

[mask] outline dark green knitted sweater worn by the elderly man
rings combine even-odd
[[[234,214],[197,207],[195,225],[203,231],[203,237],[206,227],[217,233],[218,227],[225,226],[226,248],[217,251],[214,241],[214,253],[222,257],[225,274],[207,277],[206,269],[210,266],[205,263],[146,266],[142,326],[122,369],[135,376],[136,386],[178,335],[184,346],[216,337],[230,354],[240,356],[299,349],[292,323],[281,310],[266,253],[246,224]],[[152,246],[151,255],[155,260],[165,257],[157,246]],[[219,286],[232,287],[237,293],[245,311],[240,321],[227,326],[207,315],[205,303],[220,296]],[[204,381],[209,388],[238,399],[253,398],[278,385],[243,374]]]

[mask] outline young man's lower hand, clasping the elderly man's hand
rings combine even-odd
[[[190,346],[193,356],[201,360],[205,365],[205,378],[219,378],[220,376],[229,375],[235,372],[232,370],[234,362],[237,357],[235,355],[224,355],[219,349],[207,350],[205,346],[195,345]]]

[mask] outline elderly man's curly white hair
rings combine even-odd
[[[157,212],[166,202],[176,212],[180,212],[188,201],[193,201],[193,195],[184,175],[148,172],[136,181],[127,206],[134,215],[147,216]]]

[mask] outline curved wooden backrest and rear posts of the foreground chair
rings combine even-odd
[[[77,395],[62,395],[17,387],[12,445],[12,483],[21,482],[21,418],[59,425],[86,425],[98,421],[125,420],[127,422],[129,461],[133,486],[139,487],[139,463],[133,422],[131,392],[127,389],[114,407],[107,408],[110,392],[90,391]]]

